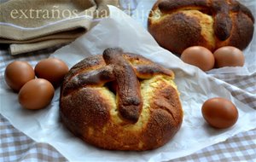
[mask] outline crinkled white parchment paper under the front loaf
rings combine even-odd
[[[90,32],[55,52],[54,57],[66,61],[69,67],[90,55],[102,54],[109,47],[120,47],[126,52],[143,55],[171,68],[175,74],[183,104],[183,125],[177,135],[165,146],[147,152],[119,152],[94,148],[73,136],[59,121],[59,93],[55,91],[52,103],[46,109],[28,111],[20,107],[18,97],[7,86],[1,87],[3,116],[17,129],[36,142],[46,142],[71,161],[165,161],[194,153],[230,136],[256,127],[256,110],[236,100],[230,91],[216,79],[197,67],[184,64],[177,56],[160,48],[154,38],[131,17],[109,6],[110,18],[101,20]],[[201,105],[209,98],[230,99],[239,110],[239,119],[233,127],[215,130],[201,116]]]

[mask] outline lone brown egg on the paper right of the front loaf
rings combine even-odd
[[[204,102],[201,113],[207,123],[215,128],[229,128],[236,124],[238,111],[229,100],[216,97]]]

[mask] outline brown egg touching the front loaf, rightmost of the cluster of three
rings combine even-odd
[[[44,78],[57,87],[68,72],[68,67],[60,59],[49,58],[39,61],[35,67],[35,72],[38,78]]]

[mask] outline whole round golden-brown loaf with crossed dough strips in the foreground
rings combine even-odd
[[[183,121],[173,79],[172,70],[142,56],[106,49],[80,61],[64,78],[61,120],[99,148],[159,148]]]

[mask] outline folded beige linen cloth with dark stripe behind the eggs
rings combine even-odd
[[[0,43],[11,55],[73,42],[119,0],[9,0],[0,4]]]

